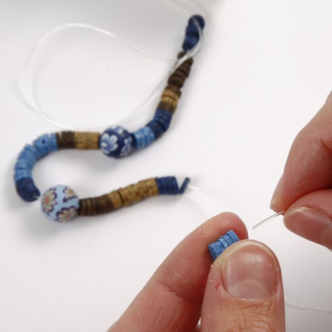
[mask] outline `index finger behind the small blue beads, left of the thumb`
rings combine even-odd
[[[110,329],[113,331],[195,331],[212,264],[208,244],[234,230],[247,239],[243,221],[222,213],[181,241]],[[130,273],[130,272],[129,272]]]

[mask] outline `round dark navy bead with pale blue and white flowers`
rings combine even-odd
[[[120,158],[130,153],[132,142],[129,131],[120,126],[113,126],[100,135],[99,146],[105,155]]]

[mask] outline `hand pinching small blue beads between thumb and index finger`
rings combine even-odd
[[[109,332],[285,331],[280,265],[268,247],[240,241],[211,265],[208,244],[229,230],[247,239],[245,225],[232,213],[189,234]]]

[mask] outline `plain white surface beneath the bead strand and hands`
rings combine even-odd
[[[21,201],[12,181],[21,147],[42,133],[60,130],[32,113],[21,96],[23,65],[32,45],[56,25],[79,21],[139,41],[146,52],[173,56],[183,31],[179,32],[180,23],[170,23],[169,31],[158,30],[169,12],[163,21],[157,5],[150,11],[143,5],[137,10],[129,0],[0,0],[1,332],[106,331],[173,247],[200,223],[222,210],[232,210],[251,229],[272,214],[269,200],[291,142],[332,88],[332,2],[207,2],[208,36],[164,137],[120,161],[98,151],[63,151],[49,155],[34,169],[42,192],[61,183],[80,197],[93,197],[164,175],[188,175],[192,186],[201,191],[157,197],[113,214],[58,225],[44,219],[39,203]],[[144,20],[137,19],[140,15],[145,15]],[[179,19],[182,14],[176,15]],[[87,40],[91,43],[94,38]],[[87,121],[89,117],[93,121],[89,107],[106,109],[104,101],[112,94],[107,84],[112,87],[115,78],[105,74],[107,57],[102,54],[114,48],[111,44],[107,49],[107,42],[98,37],[96,41],[98,47],[88,47],[91,67],[82,50],[78,76],[67,68],[67,77],[56,78],[67,89],[61,90],[59,84],[59,91],[50,87],[52,94],[41,87],[47,107],[53,105],[47,100],[60,99],[57,107],[82,109]],[[52,60],[65,63],[66,56],[56,56]],[[118,63],[117,69],[123,65]],[[139,57],[130,65],[143,66]],[[169,63],[155,61],[146,66],[140,79],[118,82],[125,91],[124,109],[131,98],[147,96],[153,87],[149,82],[161,79]],[[131,73],[130,68],[124,70]],[[80,80],[81,75],[91,76],[90,86]],[[104,90],[96,88],[96,82]],[[84,89],[91,89],[91,95]],[[140,124],[151,115],[153,106],[142,112]],[[128,126],[137,128],[133,123]],[[331,252],[287,232],[280,218],[250,231],[250,237],[276,252],[291,300],[332,309]],[[287,306],[288,331],[331,331],[331,320],[329,313]]]

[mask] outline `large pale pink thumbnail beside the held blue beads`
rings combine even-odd
[[[223,255],[223,282],[229,294],[247,300],[271,298],[276,287],[276,263],[267,247],[247,241]]]

